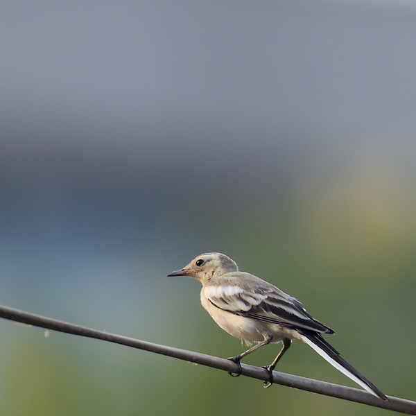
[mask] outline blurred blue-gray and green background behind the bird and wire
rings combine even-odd
[[[393,0],[1,3],[0,303],[232,356],[198,281],[166,277],[224,252],[416,399],[415,21]],[[1,415],[384,412],[0,331]],[[278,370],[354,385],[296,342]]]

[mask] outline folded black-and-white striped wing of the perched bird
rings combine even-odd
[[[254,281],[241,278],[209,281],[204,294],[211,304],[235,315],[293,329],[333,333],[332,329],[312,318],[297,299],[259,278]]]

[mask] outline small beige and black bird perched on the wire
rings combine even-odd
[[[200,301],[216,324],[230,335],[246,343],[255,343],[247,351],[229,357],[239,365],[239,371],[229,373],[239,376],[241,359],[269,343],[283,343],[283,347],[268,370],[272,384],[272,371],[291,346],[293,339],[312,347],[333,367],[380,399],[387,400],[383,392],[347,363],[324,338],[322,333],[334,331],[312,317],[295,297],[287,295],[275,285],[248,272],[241,272],[236,262],[225,254],[209,252],[200,254],[187,266],[168,274],[194,277],[202,284]]]

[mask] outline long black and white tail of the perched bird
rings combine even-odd
[[[367,392],[372,393],[372,395],[375,395],[380,399],[388,400],[388,398],[383,395],[383,392],[376,388],[370,380],[367,380],[365,376],[359,373],[354,367],[352,367],[352,365],[347,363],[347,361],[340,356],[336,349],[331,347],[331,345],[329,345],[329,343],[327,343],[327,341],[325,341],[319,333],[305,329],[298,329],[298,331],[302,336],[303,342],[308,344],[309,347],[315,349],[315,352],[318,352],[318,354],[327,360],[328,363],[333,365],[333,367],[345,374],[349,377],[349,379],[352,379],[352,381],[355,381],[358,385],[361,385],[361,387],[367,390]]]

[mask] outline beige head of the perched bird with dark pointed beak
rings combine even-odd
[[[236,272],[239,268],[234,260],[221,253],[204,253],[195,257],[184,268],[168,274],[170,276],[195,277],[202,284],[213,277],[224,275],[227,272]]]

